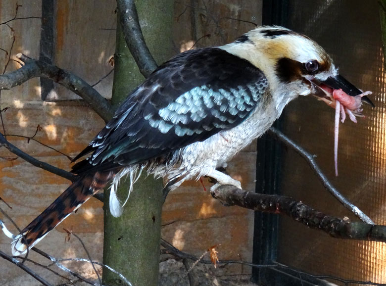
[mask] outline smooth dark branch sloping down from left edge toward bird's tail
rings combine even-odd
[[[4,136],[0,133],[0,146],[1,145],[3,145],[5,148],[7,148],[10,152],[15,154],[16,156],[19,156],[20,158],[24,159],[28,163],[31,163],[35,167],[42,168],[44,170],[47,170],[48,172],[51,172],[51,173],[56,174],[56,175],[58,175],[60,177],[66,178],[66,179],[68,179],[70,181],[74,181],[74,179],[76,177],[74,174],[72,174],[70,172],[64,171],[64,170],[59,169],[57,167],[54,167],[54,166],[52,166],[52,165],[50,165],[48,163],[39,161],[38,159],[28,155],[27,153],[23,152],[22,150],[17,148],[12,143],[9,143],[4,138]]]

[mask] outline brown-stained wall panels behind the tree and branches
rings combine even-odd
[[[42,3],[39,0],[0,1],[0,23],[15,14],[16,2],[22,6],[18,17],[41,17]],[[247,2],[247,3],[246,3]],[[52,62],[95,83],[106,75],[111,66],[108,63],[115,45],[114,0],[60,0],[55,1],[54,46]],[[261,1],[242,0],[183,0],[175,4],[175,33],[172,53],[188,48],[198,40],[195,47],[219,46],[230,42],[253,25],[239,20],[261,22]],[[8,23],[13,28],[15,43],[12,50],[12,31],[0,25],[0,48],[15,54],[39,58],[41,19],[20,19]],[[202,36],[210,34],[210,37]],[[162,37],[162,35],[160,35]],[[0,50],[0,72],[7,62],[6,53]],[[16,61],[10,61],[6,72],[19,68]],[[112,75],[96,86],[105,97],[111,93]],[[50,101],[41,99],[41,81],[32,79],[10,91],[1,91],[1,108],[6,134],[32,136],[38,125],[42,131],[36,139],[69,156],[76,155],[103,127],[103,121],[82,101],[73,100],[76,95],[56,84],[50,90]],[[72,100],[70,100],[72,99]],[[69,160],[58,152],[34,141],[27,142],[20,137],[9,136],[8,140],[39,160],[65,170],[70,169]],[[255,148],[241,152],[230,164],[229,173],[241,180],[245,189],[254,189]],[[210,184],[204,182],[206,188]],[[47,171],[32,167],[5,148],[0,148],[0,197],[12,206],[0,207],[7,212],[19,227],[26,226],[43,211],[68,181]],[[101,261],[102,254],[102,204],[96,199],[89,200],[75,215],[70,216],[56,230],[52,231],[38,247],[55,257],[86,257],[80,243],[71,238],[65,241],[63,228],[78,234],[88,246],[92,257]],[[0,219],[4,219],[0,216]],[[14,228],[5,220],[7,226]],[[220,259],[251,260],[253,213],[238,207],[223,207],[214,200],[198,182],[188,182],[169,194],[163,210],[162,237],[183,251],[200,255],[209,246],[218,246]],[[0,234],[0,250],[10,253],[9,239]],[[31,253],[29,258],[49,264],[47,260]],[[66,264],[66,263],[65,263]],[[67,265],[75,266],[75,262]],[[79,265],[80,271],[93,275],[89,265]],[[39,269],[39,268],[37,268]],[[249,268],[227,266],[228,274],[249,273]],[[39,269],[39,271],[41,271]],[[1,260],[0,284],[22,285],[27,276],[12,264]],[[60,279],[45,274],[52,283]],[[55,282],[53,282],[55,281]],[[37,284],[32,282],[32,284]],[[31,284],[31,285],[32,285]]]

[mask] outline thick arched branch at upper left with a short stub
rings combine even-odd
[[[81,96],[104,121],[113,116],[114,111],[108,101],[80,77],[55,65],[31,59],[22,53],[18,53],[16,57],[26,64],[15,71],[0,75],[0,90],[9,90],[35,77],[48,78]]]

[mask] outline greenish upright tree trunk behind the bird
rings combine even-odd
[[[137,1],[137,10],[146,43],[158,62],[171,55],[172,0]],[[143,80],[126,46],[117,20],[112,104],[120,103]],[[144,172],[145,173],[145,172]],[[123,180],[122,180],[123,181]],[[111,216],[105,191],[103,263],[123,274],[135,286],[155,286],[158,282],[162,211],[162,181],[143,174],[134,185],[123,214]],[[118,197],[126,198],[128,182],[121,182]],[[123,281],[103,271],[103,284],[122,285]]]

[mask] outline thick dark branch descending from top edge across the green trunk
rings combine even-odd
[[[117,0],[122,32],[140,72],[147,78],[157,63],[146,46],[134,0]]]

